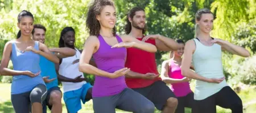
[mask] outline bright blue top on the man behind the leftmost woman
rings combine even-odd
[[[41,76],[49,76],[48,79],[55,80],[46,83],[46,87],[49,90],[52,87],[58,86],[57,73],[55,71],[55,64],[50,60],[46,59],[44,56],[40,55],[40,68],[41,68]]]

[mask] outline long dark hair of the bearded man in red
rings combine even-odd
[[[129,34],[131,32],[131,23],[129,21],[129,18],[133,19],[134,15],[137,11],[144,11],[144,9],[141,7],[134,7],[126,15],[126,25],[125,25],[125,33],[126,34]],[[144,34],[145,32],[146,32],[146,27],[144,27],[144,29],[142,30],[142,34]]]

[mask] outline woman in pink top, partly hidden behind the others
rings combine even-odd
[[[166,84],[171,84],[171,90],[178,99],[176,113],[184,113],[184,107],[192,108],[194,93],[190,89],[187,77],[181,75],[181,56],[184,52],[185,43],[182,40],[177,40],[179,49],[171,51],[170,59],[162,63],[161,78]]]

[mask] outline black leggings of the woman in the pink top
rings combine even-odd
[[[178,105],[175,110],[175,113],[184,113],[185,107],[192,108],[192,106],[195,104],[194,101],[194,93],[188,93],[184,97],[177,97],[178,99]]]

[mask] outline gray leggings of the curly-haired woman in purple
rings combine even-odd
[[[94,113],[115,113],[115,108],[134,113],[154,113],[155,110],[151,101],[130,88],[116,95],[93,98]]]

